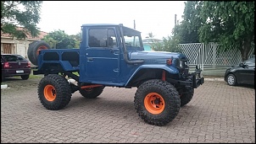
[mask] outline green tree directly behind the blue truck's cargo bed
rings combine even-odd
[[[60,29],[50,32],[42,40],[45,40],[53,49],[70,49],[77,46],[76,40]]]

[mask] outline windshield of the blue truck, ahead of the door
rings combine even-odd
[[[142,47],[141,33],[135,29],[123,28],[125,45]]]

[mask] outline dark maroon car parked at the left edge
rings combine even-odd
[[[31,74],[31,62],[23,56],[15,54],[1,54],[2,81],[5,77],[20,76],[26,80]]]

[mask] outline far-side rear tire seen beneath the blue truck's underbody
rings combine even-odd
[[[105,87],[94,87],[94,88],[85,88],[85,89],[79,89],[79,93],[86,99],[95,99],[97,96],[99,96],[101,93],[103,93],[103,89]]]

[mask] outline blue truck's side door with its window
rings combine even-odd
[[[116,83],[120,74],[120,49],[114,28],[88,29],[86,79],[91,82]]]

